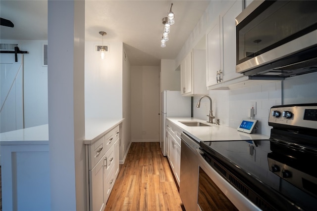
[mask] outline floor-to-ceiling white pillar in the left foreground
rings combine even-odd
[[[86,210],[85,1],[49,1],[48,38],[51,210],[82,211]]]

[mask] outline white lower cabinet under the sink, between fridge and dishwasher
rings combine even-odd
[[[181,139],[180,134],[182,129],[175,126],[170,121],[166,120],[166,125],[169,127],[170,131],[166,130],[166,142],[167,142],[167,159],[169,165],[173,171],[176,181],[179,185],[180,181],[180,150],[181,150]]]

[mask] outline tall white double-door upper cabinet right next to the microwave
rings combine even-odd
[[[242,12],[243,1],[228,1],[220,16],[211,24],[206,34],[208,89],[226,88],[230,80],[244,78],[236,73],[235,18]]]

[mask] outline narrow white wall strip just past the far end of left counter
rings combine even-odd
[[[123,56],[124,56],[123,46]],[[122,115],[124,121],[122,123],[122,138],[120,145],[120,163],[124,163],[128,153],[128,148],[131,144],[131,66],[129,57],[123,58],[123,73],[122,73]]]

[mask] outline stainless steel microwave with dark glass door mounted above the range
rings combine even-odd
[[[254,0],[236,17],[236,72],[286,78],[317,71],[317,1]]]

